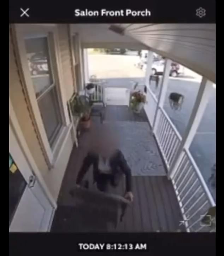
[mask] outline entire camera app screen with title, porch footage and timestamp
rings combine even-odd
[[[40,5],[15,6],[10,235],[78,233],[78,252],[149,252],[143,233],[214,237],[214,8],[55,3],[46,16],[46,3],[39,19]]]

